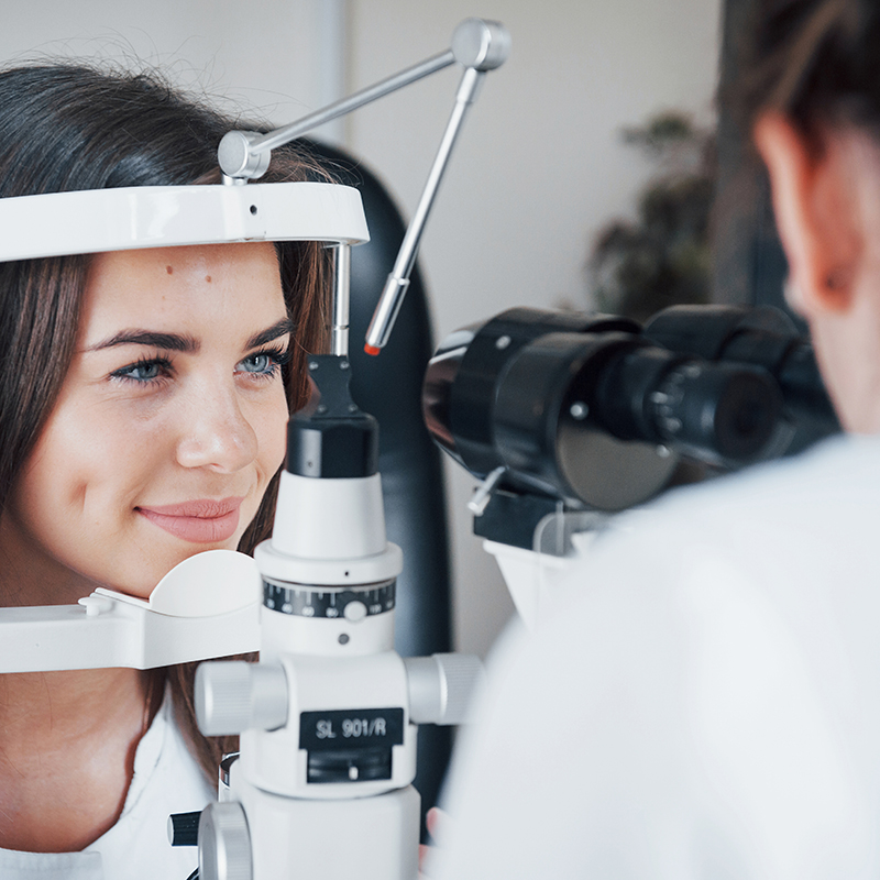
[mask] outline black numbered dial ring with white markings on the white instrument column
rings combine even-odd
[[[309,586],[263,581],[263,604],[297,617],[362,620],[394,609],[396,581],[350,586]]]

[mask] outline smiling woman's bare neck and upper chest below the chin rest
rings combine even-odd
[[[132,669],[0,675],[0,847],[77,851],[112,827],[160,689]]]

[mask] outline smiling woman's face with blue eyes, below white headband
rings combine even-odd
[[[290,329],[271,244],[96,256],[0,547],[46,587],[76,573],[143,597],[185,558],[234,549],[284,459]]]

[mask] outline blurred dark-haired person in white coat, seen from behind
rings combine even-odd
[[[880,6],[755,6],[724,97],[848,433],[594,546],[498,659],[435,878],[880,875]]]

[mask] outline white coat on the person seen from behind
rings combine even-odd
[[[557,605],[493,664],[432,878],[880,876],[880,439],[671,493]]]

